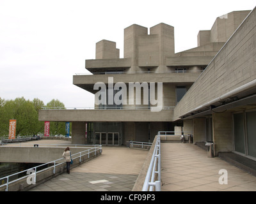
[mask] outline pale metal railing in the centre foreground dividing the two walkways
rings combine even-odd
[[[142,191],[161,191],[161,142],[157,134],[156,145],[148,167]],[[157,179],[155,179],[157,174]]]

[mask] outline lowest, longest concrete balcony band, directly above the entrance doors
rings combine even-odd
[[[60,122],[170,122],[173,107],[159,112],[150,110],[39,110],[38,120]]]

